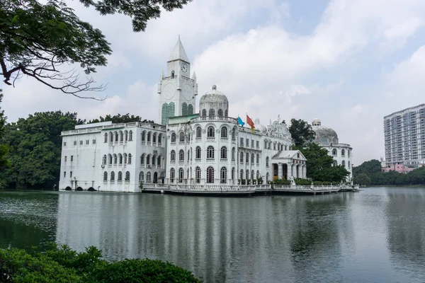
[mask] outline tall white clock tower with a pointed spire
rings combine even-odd
[[[195,113],[198,83],[196,75],[191,78],[191,63],[184,51],[180,37],[166,63],[166,75],[161,74],[158,83],[159,120],[168,124],[169,117],[186,116]]]

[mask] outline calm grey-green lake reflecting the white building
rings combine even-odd
[[[0,247],[96,246],[205,282],[425,282],[425,188],[192,197],[0,191]]]

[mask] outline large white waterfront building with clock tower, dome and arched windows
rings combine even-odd
[[[111,122],[62,132],[61,190],[140,192],[140,183],[238,185],[274,178],[305,178],[306,159],[293,151],[278,120],[256,129],[229,117],[216,86],[199,101],[196,75],[180,39],[158,84],[162,125]]]

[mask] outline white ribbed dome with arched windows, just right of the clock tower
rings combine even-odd
[[[217,86],[212,86],[199,100],[200,116],[226,116],[229,112],[229,100],[224,93],[217,91]]]

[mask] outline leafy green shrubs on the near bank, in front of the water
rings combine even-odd
[[[77,253],[51,243],[44,253],[0,249],[1,282],[200,282],[191,272],[170,262],[131,259],[103,260],[95,247]]]

